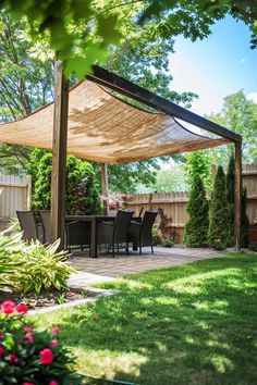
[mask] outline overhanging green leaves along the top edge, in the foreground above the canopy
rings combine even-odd
[[[47,38],[65,61],[66,73],[81,77],[138,26],[149,27],[152,41],[181,34],[195,40],[230,14],[248,25],[252,47],[257,46],[257,4],[252,0],[1,0],[0,7],[19,20],[26,16],[35,39]]]

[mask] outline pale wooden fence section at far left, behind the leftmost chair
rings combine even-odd
[[[0,174],[0,229],[9,226],[16,210],[29,210],[32,177]]]

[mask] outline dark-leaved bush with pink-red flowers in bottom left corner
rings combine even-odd
[[[73,358],[59,344],[59,327],[38,332],[27,322],[25,305],[8,300],[0,312],[0,384],[81,384],[69,368]]]

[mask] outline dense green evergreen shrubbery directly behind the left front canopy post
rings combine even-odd
[[[37,152],[39,156],[40,152]],[[34,159],[34,158],[33,158]],[[37,173],[33,192],[33,208],[35,210],[50,209],[51,199],[51,171],[52,154],[45,153],[35,164]],[[83,183],[83,189],[82,189]],[[81,199],[81,192],[84,197]],[[101,212],[101,202],[96,188],[95,172],[90,163],[81,159],[68,156],[66,158],[66,214],[75,214],[77,206],[82,209],[84,206],[85,214],[97,214]]]

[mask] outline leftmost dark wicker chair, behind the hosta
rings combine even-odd
[[[30,241],[39,239],[44,244],[42,224],[36,222],[34,211],[16,211],[16,215],[23,231],[23,240]]]

